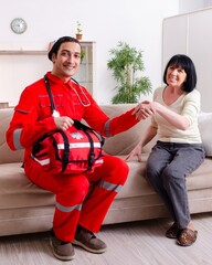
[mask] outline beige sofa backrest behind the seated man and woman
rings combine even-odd
[[[115,117],[134,108],[136,104],[112,104],[102,105],[100,108],[109,116]],[[9,128],[10,120],[13,115],[13,108],[0,109],[0,163],[7,162],[22,162],[23,150],[12,151],[6,141],[6,131]],[[141,120],[136,126],[127,131],[124,131],[114,137],[106,138],[104,150],[114,156],[128,155],[132,148],[138,144],[144,135],[145,129],[149,125],[149,118]],[[142,148],[142,152],[149,152],[155,140]]]

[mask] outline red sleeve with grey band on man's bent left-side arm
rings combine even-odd
[[[39,120],[39,104],[25,89],[14,108],[14,114],[7,130],[7,142],[12,150],[28,148],[43,134],[54,130],[53,117]]]

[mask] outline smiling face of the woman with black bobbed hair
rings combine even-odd
[[[170,86],[182,87],[184,81],[187,80],[187,73],[180,66],[170,65],[167,68],[166,80],[167,80],[167,84]]]

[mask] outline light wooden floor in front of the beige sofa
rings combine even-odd
[[[98,235],[108,251],[92,254],[75,247],[72,262],[53,257],[49,233],[0,237],[0,265],[212,265],[212,213],[192,219],[199,234],[189,247],[165,237],[170,223],[160,219],[105,225]]]

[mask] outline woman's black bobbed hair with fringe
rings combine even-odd
[[[169,62],[166,66],[165,73],[163,73],[165,84],[167,84],[167,71],[168,71],[168,67],[170,67],[170,66],[181,67],[182,70],[184,70],[184,72],[187,73],[187,78],[184,81],[182,91],[192,92],[195,88],[197,81],[198,81],[197,73],[195,73],[195,66],[194,66],[192,60],[184,54],[173,55],[169,60]]]

